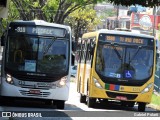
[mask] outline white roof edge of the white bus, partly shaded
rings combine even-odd
[[[70,27],[67,25],[49,23],[44,20],[32,20],[32,21],[15,20],[15,21],[11,22],[10,24],[14,24],[14,25],[39,25],[39,26],[60,27],[60,28],[70,29]]]

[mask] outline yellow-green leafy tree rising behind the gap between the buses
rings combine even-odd
[[[96,17],[93,5],[90,5],[72,12],[65,22],[71,26],[77,41],[84,32],[94,30],[96,25],[100,23],[100,19]]]

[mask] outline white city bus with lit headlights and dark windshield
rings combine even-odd
[[[70,27],[41,20],[14,21],[1,45],[1,102],[33,98],[64,109],[69,97]]]

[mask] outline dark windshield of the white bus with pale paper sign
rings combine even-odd
[[[9,36],[6,68],[11,71],[63,74],[68,68],[66,38]]]

